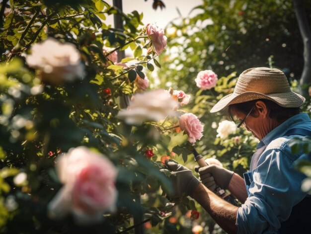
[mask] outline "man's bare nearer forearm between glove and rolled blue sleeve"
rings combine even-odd
[[[218,197],[202,183],[199,184],[192,194],[195,199],[216,221],[216,223],[229,234],[236,234],[236,213],[238,207],[233,206]]]

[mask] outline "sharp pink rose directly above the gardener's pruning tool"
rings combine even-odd
[[[188,141],[195,143],[196,140],[200,140],[203,136],[203,125],[192,113],[186,113],[180,116],[179,127],[182,131],[188,135]]]

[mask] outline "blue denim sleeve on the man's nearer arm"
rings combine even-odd
[[[284,149],[285,148],[285,149]],[[274,234],[288,219],[292,207],[306,194],[300,189],[304,175],[293,166],[286,145],[267,149],[252,171],[249,197],[237,211],[238,234]]]

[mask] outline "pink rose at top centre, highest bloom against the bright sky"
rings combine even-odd
[[[160,55],[166,46],[166,36],[164,30],[158,29],[155,24],[147,24],[147,36],[152,41],[152,49]]]

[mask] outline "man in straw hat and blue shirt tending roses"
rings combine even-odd
[[[304,102],[304,97],[291,91],[280,70],[244,71],[233,93],[211,112],[226,111],[239,121],[238,127],[244,124],[260,140],[245,181],[233,171],[209,165],[198,170],[204,186],[189,169],[169,160],[176,194],[190,195],[228,233],[310,233],[311,197],[301,191],[306,176],[294,168],[308,156],[293,155],[287,145],[293,137],[311,136],[311,120],[300,113]],[[230,190],[241,207],[215,195],[215,182]]]

